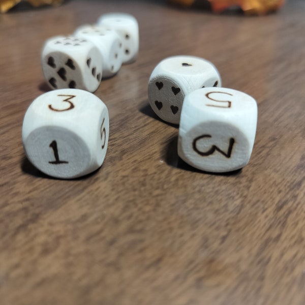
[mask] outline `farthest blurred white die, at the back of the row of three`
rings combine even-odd
[[[123,63],[133,63],[139,52],[139,25],[137,19],[129,14],[109,13],[102,15],[98,25],[114,29],[123,43]]]

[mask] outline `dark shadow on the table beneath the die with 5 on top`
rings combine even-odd
[[[186,171],[196,172],[196,173],[215,175],[215,176],[234,176],[240,174],[242,171],[242,169],[240,168],[230,172],[213,173],[194,168],[191,165],[187,164],[178,156],[177,147],[178,147],[178,136],[173,136],[169,138],[166,146],[164,147],[164,150],[162,151],[162,156],[166,164],[171,167],[179,168]]]

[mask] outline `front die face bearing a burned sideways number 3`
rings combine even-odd
[[[234,125],[222,121],[198,124],[178,138],[179,157],[195,168],[208,172],[228,172],[249,162],[250,143]]]

